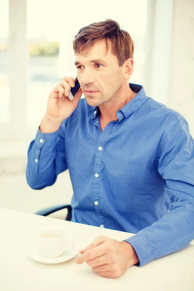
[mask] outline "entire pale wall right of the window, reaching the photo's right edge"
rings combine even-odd
[[[146,94],[181,113],[194,137],[194,0],[148,0]]]

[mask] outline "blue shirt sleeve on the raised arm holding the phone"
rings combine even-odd
[[[28,148],[26,179],[32,189],[43,189],[55,183],[57,175],[67,169],[65,157],[65,124],[52,133],[37,130]]]

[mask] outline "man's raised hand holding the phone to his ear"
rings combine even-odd
[[[63,81],[50,92],[47,111],[40,124],[41,132],[50,133],[57,131],[65,118],[69,117],[77,108],[81,99],[81,88],[72,101],[68,99],[70,90],[74,86],[75,81],[73,78],[64,77]]]

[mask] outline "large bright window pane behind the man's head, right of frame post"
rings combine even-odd
[[[69,4],[68,4],[69,3]],[[69,7],[68,7],[69,5]],[[134,69],[130,82],[143,83],[144,41],[146,34],[147,0],[123,0],[122,5],[112,6],[98,0],[91,7],[90,0],[75,0],[76,9],[64,0],[28,0],[27,35],[30,52],[27,124],[37,128],[46,112],[52,88],[66,76],[74,77],[72,41],[81,27],[107,18],[115,19],[127,30],[135,45]],[[38,7],[38,9],[37,9]],[[34,21],[35,18],[35,21]]]

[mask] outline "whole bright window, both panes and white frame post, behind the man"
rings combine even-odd
[[[146,0],[123,0],[112,6],[98,0],[1,0],[0,128],[11,141],[29,141],[46,112],[52,88],[65,75],[76,74],[72,41],[81,27],[112,18],[127,30],[135,45],[130,82],[142,83],[145,59]],[[9,5],[8,5],[9,4]],[[91,13],[86,13],[91,7]],[[7,49],[8,48],[8,49]],[[1,136],[3,139],[3,136]]]

